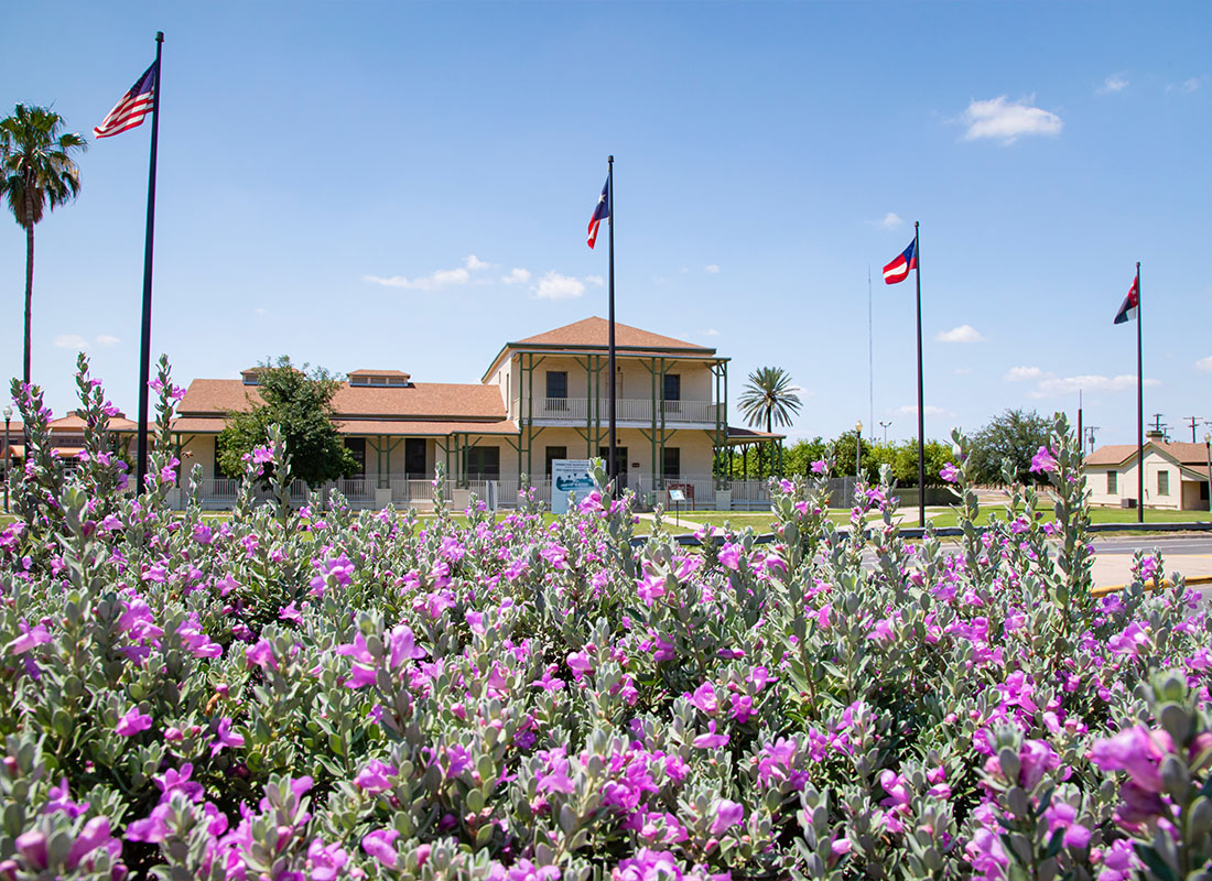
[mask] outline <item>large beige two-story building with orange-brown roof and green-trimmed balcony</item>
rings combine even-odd
[[[338,488],[354,503],[412,504],[431,497],[438,463],[454,491],[501,505],[533,486],[550,500],[551,462],[607,456],[607,332],[590,317],[505,343],[480,384],[413,382],[398,370],[355,370],[332,400],[361,473]],[[621,482],[642,499],[684,490],[697,508],[731,508],[718,459],[731,444],[782,435],[727,425],[727,365],[715,349],[616,324]],[[225,417],[257,405],[258,370],[241,379],[195,379],[173,423],[184,470],[202,465],[204,499],[234,499],[217,468]]]

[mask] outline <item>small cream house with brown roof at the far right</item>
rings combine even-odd
[[[1091,504],[1113,508],[1139,504],[1136,444],[1099,447],[1086,457],[1085,465]],[[1208,510],[1208,447],[1149,437],[1144,444],[1144,505]]]

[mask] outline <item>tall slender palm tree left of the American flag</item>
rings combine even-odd
[[[0,120],[0,196],[17,225],[25,230],[25,356],[22,377],[29,383],[30,322],[34,302],[34,224],[80,193],[74,150],[88,149],[79,135],[63,132],[64,120],[45,107],[17,104]]]

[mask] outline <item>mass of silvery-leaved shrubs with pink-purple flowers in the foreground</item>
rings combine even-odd
[[[1092,596],[1063,419],[1035,462],[1050,500],[1017,488],[987,530],[956,437],[957,547],[904,540],[887,482],[837,531],[827,456],[777,486],[776,543],[699,551],[634,548],[600,471],[551,525],[440,493],[429,520],[293,510],[276,434],[230,517],[202,517],[196,471],[182,515],[167,366],[139,497],[81,373],[73,475],[15,389],[2,880],[1210,870],[1208,619],[1151,556]]]

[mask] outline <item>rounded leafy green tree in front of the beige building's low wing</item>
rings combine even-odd
[[[228,413],[218,436],[219,467],[225,474],[244,471],[244,457],[265,444],[270,425],[279,425],[291,457],[291,471],[315,487],[358,473],[333,423],[332,396],[341,381],[322,367],[308,371],[286,356],[261,365],[257,393],[263,404]],[[251,399],[250,399],[251,401]]]

